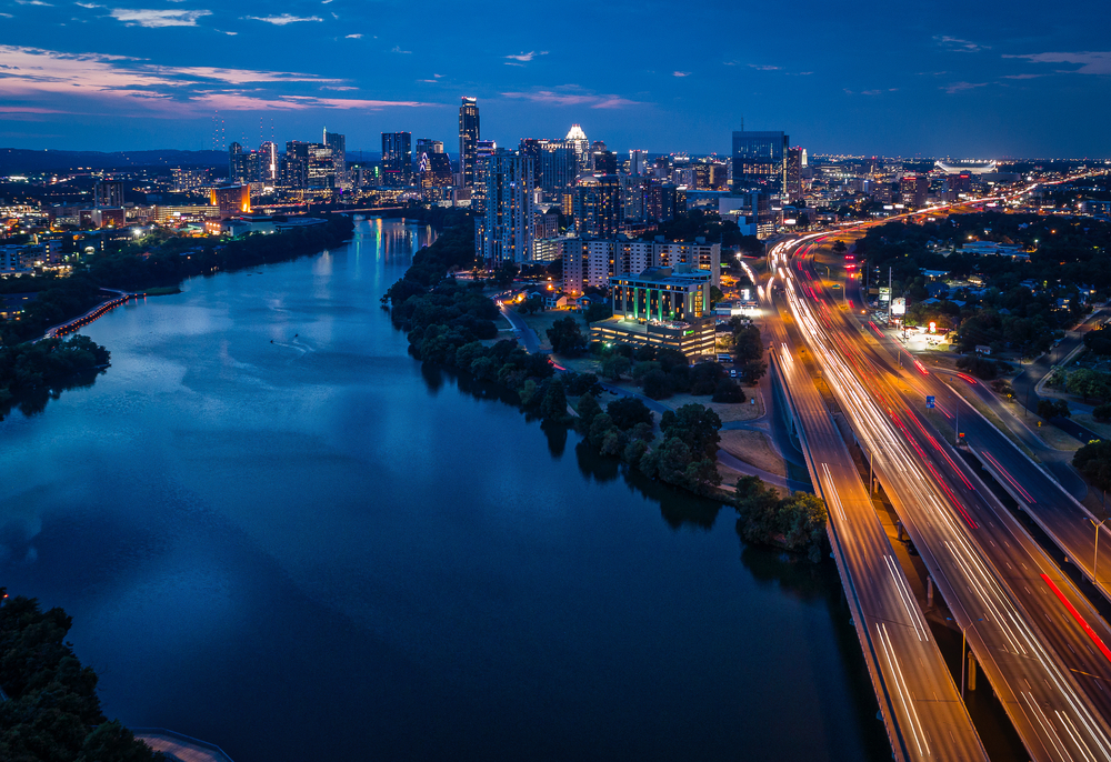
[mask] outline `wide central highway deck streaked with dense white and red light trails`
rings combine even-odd
[[[791,248],[773,262],[792,314],[1031,756],[1111,759],[1105,623],[913,411],[930,377],[879,354]]]

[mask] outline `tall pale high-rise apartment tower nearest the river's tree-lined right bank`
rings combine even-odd
[[[532,260],[534,173],[532,157],[504,149],[487,157],[486,213],[479,250],[488,263]]]

